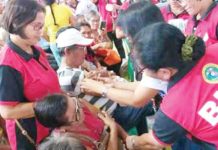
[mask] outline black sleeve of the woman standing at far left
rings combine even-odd
[[[23,78],[17,70],[0,66],[0,104],[15,105],[25,100]]]

